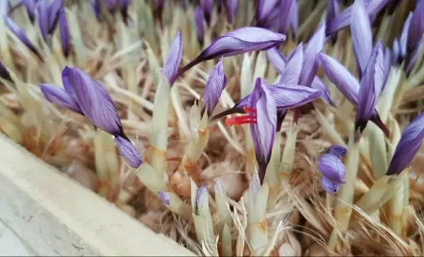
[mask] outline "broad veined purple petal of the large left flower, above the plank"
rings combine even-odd
[[[62,82],[73,89],[73,95],[83,114],[98,128],[112,135],[122,133],[122,124],[110,95],[100,83],[79,68],[66,66]]]

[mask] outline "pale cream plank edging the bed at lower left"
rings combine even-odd
[[[0,219],[37,256],[195,256],[3,134]]]

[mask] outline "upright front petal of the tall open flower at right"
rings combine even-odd
[[[358,106],[356,107],[355,131],[362,132],[375,109],[377,97],[382,90],[384,79],[382,42],[379,40],[372,50],[370,60],[360,80]]]

